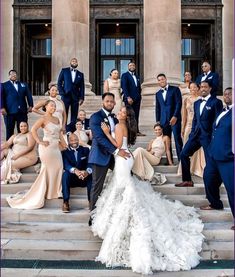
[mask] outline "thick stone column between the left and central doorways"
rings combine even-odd
[[[52,81],[57,81],[62,67],[78,59],[84,73],[85,94],[89,83],[89,0],[52,0]]]

